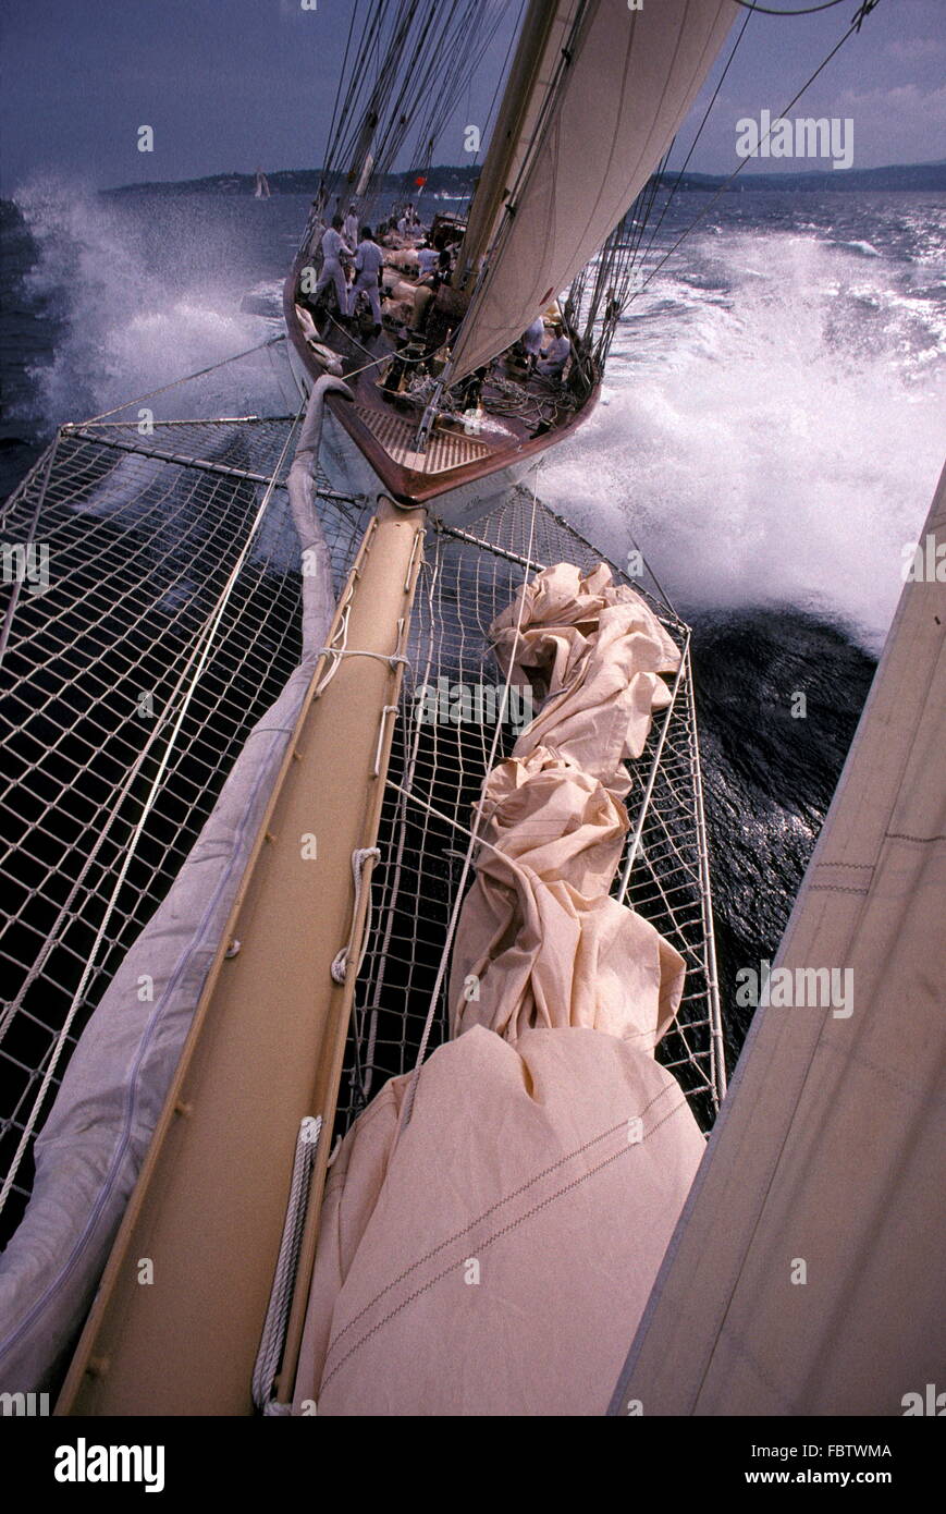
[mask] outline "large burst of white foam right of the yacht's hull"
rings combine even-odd
[[[943,463],[943,309],[816,238],[690,257],[730,309],[678,273],[661,315],[624,322],[604,404],[540,492],[618,557],[633,533],[681,604],[807,607],[876,650]]]

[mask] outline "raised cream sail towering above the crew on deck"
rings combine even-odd
[[[534,150],[510,186],[515,213],[460,329],[453,378],[510,347],[595,256],[669,147],[736,14],[733,0],[580,6]],[[545,68],[536,88],[546,88]],[[489,157],[484,180],[487,168]]]

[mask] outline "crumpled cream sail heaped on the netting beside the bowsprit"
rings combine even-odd
[[[615,1322],[640,1316],[705,1149],[652,1054],[683,958],[608,896],[628,828],[622,755],[646,734],[643,689],[648,710],[666,704],[657,671],[680,653],[607,569],[562,563],[524,598],[513,619],[524,612],[525,666],[548,689],[542,745],[527,727],[486,780],[456,1039],[413,1087],[386,1084],[331,1166],[301,1414],[604,1413]],[[513,657],[507,630],[509,615],[493,633]],[[634,698],[580,713],[608,669]]]

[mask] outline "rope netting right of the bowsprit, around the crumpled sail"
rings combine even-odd
[[[531,498],[516,491],[471,531],[428,531],[372,877],[372,928],[342,1075],[341,1131],[387,1076],[413,1067],[499,713],[504,680],[490,657],[489,625],[515,598],[527,562],[534,572],[557,562],[589,569],[602,560],[542,504],[528,557],[531,518]],[[649,574],[628,580],[613,572],[648,598],[683,653],[672,704],[657,715],[643,755],[631,765],[631,828],[615,892],[624,886],[625,901],[686,960],[684,999],[658,1057],[708,1129],[725,1092],[725,1064],[689,631]],[[512,699],[496,762],[512,749],[524,718],[528,712]],[[431,1049],[445,1034],[442,995]]]

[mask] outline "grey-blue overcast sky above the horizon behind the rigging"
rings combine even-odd
[[[5,0],[0,192],[48,171],[109,188],[319,165],[353,3]],[[465,160],[463,126],[484,118],[519,15],[519,0],[484,3],[503,9],[503,23],[436,162]],[[846,0],[811,17],[752,15],[690,168],[731,171],[736,121],[787,104],[855,9]],[[946,0],[879,0],[792,114],[851,118],[855,168],[946,159],[944,80]],[[698,101],[678,142],[689,145],[701,114]],[[154,127],[151,154],[136,148],[142,124]],[[819,165],[769,159],[746,173],[808,167]]]

